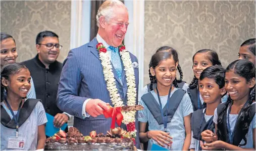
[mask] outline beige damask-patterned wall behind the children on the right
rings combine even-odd
[[[178,51],[183,79],[190,83],[196,51],[217,51],[226,67],[238,58],[241,43],[254,37],[254,1],[145,1],[144,84],[150,82],[151,56],[161,46]]]

